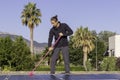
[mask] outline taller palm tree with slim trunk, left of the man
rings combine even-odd
[[[37,9],[35,3],[29,2],[27,5],[25,5],[22,11],[21,19],[22,24],[28,26],[30,29],[30,51],[32,56],[34,54],[33,29],[35,26],[38,26],[39,23],[41,23],[40,17],[40,9]]]

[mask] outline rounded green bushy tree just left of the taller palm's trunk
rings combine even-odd
[[[22,37],[15,39],[13,43],[12,65],[16,71],[31,70],[34,61],[30,56],[30,49]]]

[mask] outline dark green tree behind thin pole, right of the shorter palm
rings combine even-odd
[[[98,37],[97,37],[97,42],[94,41],[94,44],[97,43],[97,45],[95,45],[95,49],[93,51],[90,52],[90,54],[88,54],[89,58],[91,59],[91,63],[92,66],[94,68],[96,68],[96,56],[97,56],[97,66],[98,66],[98,70],[100,68],[100,63],[102,62],[104,56],[104,53],[107,49],[105,42],[101,41]],[[96,55],[96,48],[97,48],[97,55]]]

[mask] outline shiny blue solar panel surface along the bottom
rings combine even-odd
[[[120,74],[0,75],[0,80],[120,80]]]

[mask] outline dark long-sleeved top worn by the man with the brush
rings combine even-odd
[[[49,38],[48,38],[48,47],[51,47],[53,37],[55,38],[55,41],[59,37],[59,33],[63,33],[63,36],[59,40],[59,42],[56,44],[55,47],[65,47],[68,46],[68,39],[67,36],[70,36],[73,34],[72,29],[65,23],[60,23],[59,27],[52,27],[49,32]]]

